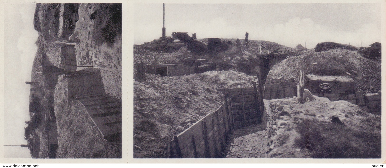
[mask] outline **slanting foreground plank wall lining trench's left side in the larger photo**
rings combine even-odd
[[[168,144],[169,158],[219,158],[231,137],[232,111],[225,102]]]

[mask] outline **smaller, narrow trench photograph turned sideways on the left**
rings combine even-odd
[[[122,3],[4,5],[4,158],[122,158]]]

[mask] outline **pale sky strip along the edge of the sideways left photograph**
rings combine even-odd
[[[4,144],[27,144],[24,121],[29,120],[29,84],[37,46],[35,4],[4,4]],[[4,158],[31,158],[29,150],[4,146]]]

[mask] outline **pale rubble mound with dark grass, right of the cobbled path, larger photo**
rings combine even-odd
[[[270,158],[381,157],[381,116],[346,101],[315,98],[304,104],[295,99],[271,103]],[[337,118],[344,125],[332,122]]]

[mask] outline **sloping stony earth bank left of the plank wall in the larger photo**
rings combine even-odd
[[[165,158],[166,144],[223,102],[217,88],[252,87],[255,77],[235,71],[187,76],[146,74],[134,81],[134,158]]]

